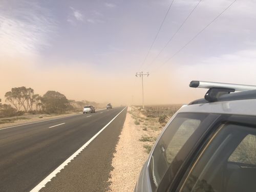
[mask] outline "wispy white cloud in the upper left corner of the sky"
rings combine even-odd
[[[50,46],[49,33],[56,28],[50,10],[26,1],[9,6],[15,13],[0,7],[0,57],[39,55]]]

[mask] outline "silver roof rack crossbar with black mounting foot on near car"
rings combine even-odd
[[[209,89],[204,96],[204,99],[209,102],[218,101],[222,95],[229,94],[231,92],[256,90],[256,86],[207,81],[191,81],[189,87]]]

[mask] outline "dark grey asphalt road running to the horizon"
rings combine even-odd
[[[31,191],[103,127],[40,191],[107,190],[111,160],[125,120],[123,109],[0,130],[0,191]]]

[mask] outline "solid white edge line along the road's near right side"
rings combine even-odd
[[[125,110],[126,107],[123,109]],[[122,110],[122,111],[123,111]],[[120,113],[122,113],[122,111]],[[89,141],[87,141],[84,145],[82,145],[73,155],[71,155],[66,161],[64,161],[61,165],[59,165],[50,175],[48,175],[44,180],[42,180],[39,184],[37,184],[30,192],[37,192],[41,188],[45,187],[46,184],[51,181],[53,177],[56,176],[57,173],[60,172],[69,162],[71,162],[79,153],[82,152],[84,148],[86,148],[120,113],[118,113],[108,124],[106,124],[98,133],[96,133]]]

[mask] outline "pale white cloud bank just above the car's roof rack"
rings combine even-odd
[[[255,84],[256,49],[208,57],[195,65],[177,66],[177,81],[205,80],[238,84]]]

